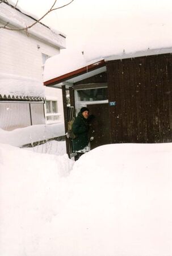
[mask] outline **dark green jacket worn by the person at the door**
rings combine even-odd
[[[73,122],[72,131],[76,135],[76,138],[73,139],[73,151],[82,150],[89,143],[89,124],[81,112],[78,113]]]

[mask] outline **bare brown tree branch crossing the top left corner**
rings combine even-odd
[[[1,0],[0,3],[5,2],[5,1],[7,2],[7,0]],[[72,3],[73,1],[74,1],[74,0],[71,0],[69,3],[66,3],[66,5],[62,5],[62,6],[60,6],[60,7],[55,7],[55,8],[53,8],[54,5],[55,5],[56,2],[57,2],[57,0],[55,0],[54,3],[53,3],[53,5],[52,5],[52,7],[51,7],[51,9],[49,9],[49,11],[47,11],[47,13],[45,13],[43,16],[41,16],[40,19],[36,20],[36,22],[33,22],[33,23],[32,23],[30,26],[28,26],[28,27],[26,26],[25,28],[10,28],[10,27],[7,27],[7,26],[10,24],[9,22],[7,22],[4,26],[0,26],[0,28],[5,28],[6,30],[13,30],[13,31],[22,31],[22,30],[25,30],[26,33],[27,33],[27,35],[28,35],[28,29],[30,29],[31,27],[35,26],[36,23],[39,23],[40,20],[42,20],[45,16],[47,16],[49,13],[51,13],[51,11],[55,11],[55,10],[64,8],[65,6],[70,5],[70,3]],[[14,8],[16,8],[17,4],[18,4],[18,1],[16,2],[16,5],[15,5]]]

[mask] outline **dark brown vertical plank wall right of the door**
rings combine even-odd
[[[108,61],[111,142],[172,142],[172,55]]]

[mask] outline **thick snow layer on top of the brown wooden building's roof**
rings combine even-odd
[[[87,31],[80,31],[80,38],[75,40],[75,44],[68,43],[60,55],[46,61],[44,81],[75,71],[97,59],[124,59],[172,52],[172,22],[167,10],[155,8],[150,13],[133,12],[132,15],[121,16],[114,13],[113,18],[106,16],[87,22]]]

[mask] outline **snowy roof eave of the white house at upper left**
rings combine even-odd
[[[10,3],[15,6],[13,2]],[[7,3],[1,3],[0,19],[3,20],[3,23],[9,22],[10,25],[17,28],[26,28],[35,22],[37,17],[27,13],[27,11],[23,11],[18,5],[14,9]],[[60,49],[66,47],[66,36],[59,31],[52,30],[43,23],[36,23],[28,32]]]

